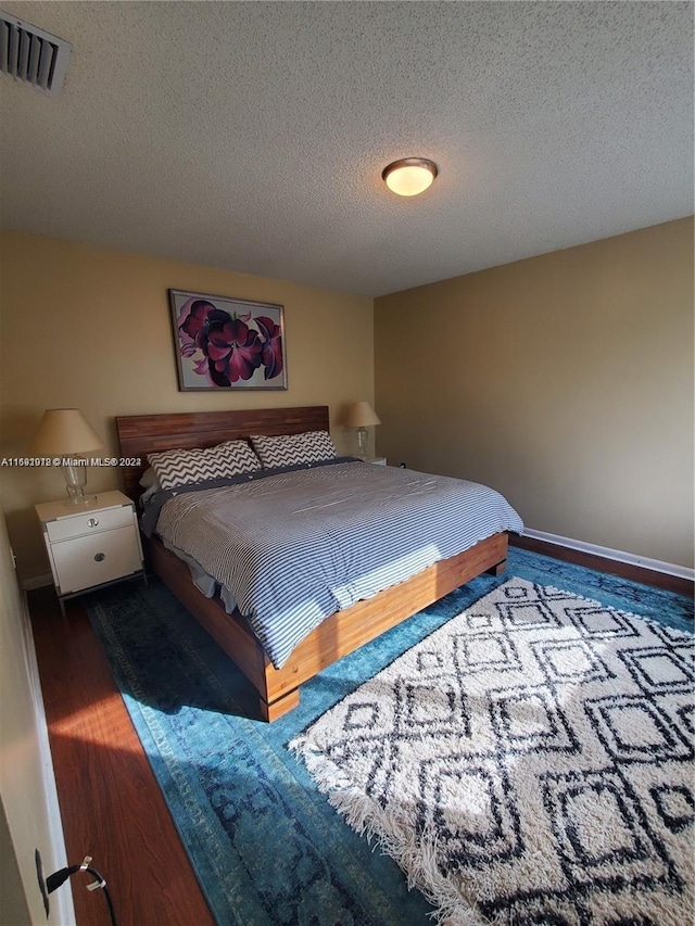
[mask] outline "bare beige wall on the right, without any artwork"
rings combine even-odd
[[[693,221],[375,302],[377,446],[693,567]]]

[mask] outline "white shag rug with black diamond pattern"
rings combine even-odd
[[[290,748],[441,924],[684,926],[688,634],[511,579]]]

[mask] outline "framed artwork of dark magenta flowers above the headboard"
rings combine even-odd
[[[283,307],[169,290],[179,391],[287,389]]]

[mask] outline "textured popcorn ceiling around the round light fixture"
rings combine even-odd
[[[2,9],[73,46],[0,75],[4,228],[380,295],[693,211],[691,3]]]

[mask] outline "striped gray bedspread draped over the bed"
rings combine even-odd
[[[278,669],[324,618],[505,530],[521,519],[485,485],[365,462],[181,493],[156,525]]]

